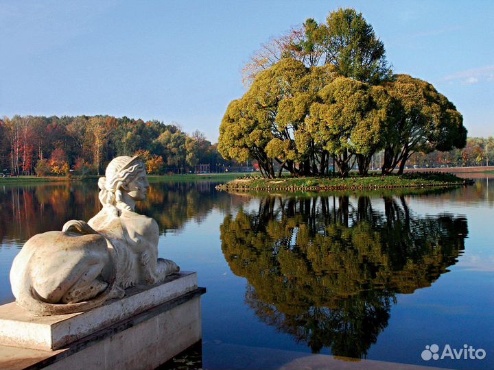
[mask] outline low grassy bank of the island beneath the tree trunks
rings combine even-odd
[[[265,179],[258,176],[238,177],[216,186],[225,191],[321,191],[364,190],[377,188],[447,188],[467,186],[473,180],[462,179],[451,173],[405,173],[403,175],[370,175],[366,177],[282,177]]]

